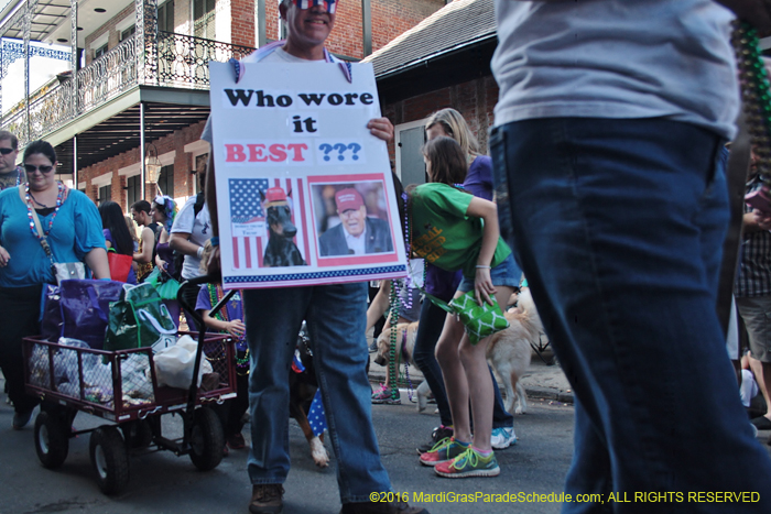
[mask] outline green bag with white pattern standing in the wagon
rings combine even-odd
[[[105,350],[174,346],[176,326],[152,284],[124,285],[121,296],[110,304]]]

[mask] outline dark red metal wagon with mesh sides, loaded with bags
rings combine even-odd
[[[203,281],[191,281],[183,287],[198,283]],[[229,296],[214,306],[213,313]],[[197,315],[196,322],[200,330],[203,320]],[[200,470],[216,468],[222,459],[225,437],[219,418],[208,406],[236,395],[234,345],[227,335],[189,335],[198,341],[193,376],[198,376],[202,353],[211,370],[200,387],[194,379],[188,390],[159,385],[151,348],[104,351],[50,342],[42,337],[25,338],[26,391],[43,400],[34,426],[35,450],[43,466],[62,466],[69,439],[90,433],[91,464],[105,494],[117,494],[127,486],[129,455],[133,451],[171,450],[177,456],[189,455]],[[110,423],[73,430],[79,412]],[[182,438],[164,437],[161,416],[169,413],[181,415]]]

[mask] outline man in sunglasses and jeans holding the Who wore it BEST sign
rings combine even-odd
[[[335,7],[334,0],[282,0],[279,10],[287,29],[285,43],[278,42],[260,48],[247,57],[245,63],[335,62],[324,47],[324,42],[335,25]],[[311,83],[313,76],[307,79]],[[285,98],[275,97],[271,101],[281,105]],[[254,101],[267,102],[268,97],[256,95]],[[213,142],[210,121],[204,129],[202,139]],[[305,125],[303,120],[297,122],[300,129],[315,129],[310,121]],[[393,125],[387,118],[370,120],[367,129],[383,141],[393,136]],[[243,158],[253,156],[256,161],[262,158],[263,149],[253,146],[243,150],[232,146],[228,151],[232,158],[240,158],[241,155]],[[302,149],[297,150],[300,151]],[[209,154],[206,199],[211,212],[213,230],[218,236],[217,181],[213,153]],[[219,187],[224,186],[220,184]],[[214,243],[218,242],[215,237]],[[219,270],[219,247],[215,247],[209,271]],[[290,469],[289,373],[297,332],[305,319],[313,341],[315,367],[332,436],[329,439],[337,457],[337,478],[343,502],[340,512],[425,513],[425,510],[410,507],[403,502],[370,501],[377,493],[391,491],[391,483],[380,461],[380,450],[372,429],[370,387],[365,372],[368,357],[365,339],[367,284],[247,289],[243,298],[247,340],[251,353],[249,400],[252,448],[248,472],[253,489],[249,511],[283,511],[282,484]]]

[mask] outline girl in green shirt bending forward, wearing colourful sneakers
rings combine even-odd
[[[450,138],[436,138],[423,147],[430,183],[410,190],[412,251],[447,271],[463,270],[456,297],[474,291],[477,302],[491,297],[506,305],[519,285],[519,269],[498,231],[496,205],[458,185],[466,176],[466,155]],[[447,478],[496,477],[500,468],[490,446],[493,389],[487,368],[489,338],[471,345],[463,324],[447,315],[436,345],[455,436],[421,456]],[[469,400],[475,433],[471,436]]]

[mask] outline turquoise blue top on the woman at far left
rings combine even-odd
[[[40,216],[43,231],[47,230],[52,217],[53,212]],[[95,248],[105,249],[96,205],[82,192],[70,189],[56,214],[47,240],[54,262],[83,262]],[[51,272],[51,260],[30,230],[26,205],[19,197],[18,187],[0,192],[0,245],[11,255],[8,265],[0,267],[0,287],[56,282]]]

